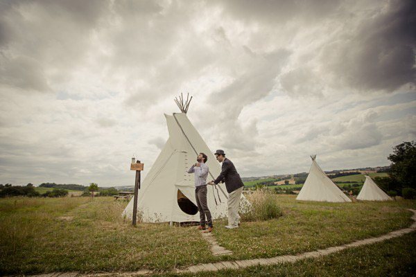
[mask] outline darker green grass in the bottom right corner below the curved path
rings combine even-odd
[[[416,233],[365,247],[346,249],[322,258],[295,263],[254,266],[238,270],[220,270],[198,274],[163,274],[163,276],[250,277],[250,276],[415,276]],[[160,275],[153,275],[160,276]]]

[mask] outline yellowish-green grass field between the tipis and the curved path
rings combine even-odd
[[[0,199],[0,275],[163,271],[201,262],[302,253],[409,226],[411,213],[405,208],[416,208],[410,200],[329,204],[297,202],[291,195],[273,197],[284,211],[279,219],[242,222],[240,229],[233,230],[224,228],[224,220],[214,222],[216,240],[234,252],[220,257],[211,255],[195,227],[139,224],[133,228],[120,216],[127,202],[112,197]],[[342,258],[334,262],[343,265]],[[309,272],[330,270],[329,265],[313,261],[300,265],[305,270],[313,266]],[[267,274],[286,269],[252,270]]]

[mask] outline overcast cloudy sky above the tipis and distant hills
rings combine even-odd
[[[0,184],[134,185],[188,117],[242,177],[416,140],[416,1],[0,0]]]

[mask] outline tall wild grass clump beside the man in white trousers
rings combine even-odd
[[[256,190],[252,195],[248,195],[248,201],[251,202],[251,207],[249,211],[246,209],[244,213],[241,213],[243,221],[270,220],[283,214],[271,190]]]

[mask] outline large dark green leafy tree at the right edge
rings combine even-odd
[[[399,188],[416,188],[416,143],[408,141],[396,145],[393,154],[388,156],[392,161],[390,177],[395,179]]]

